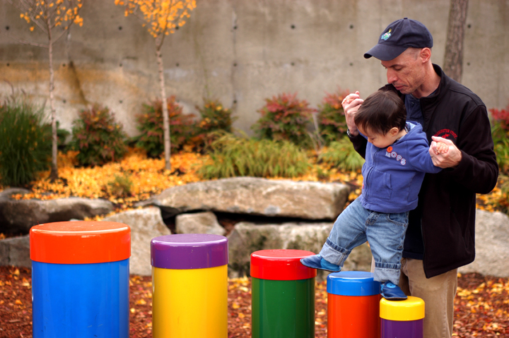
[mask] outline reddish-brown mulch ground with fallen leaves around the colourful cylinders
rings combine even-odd
[[[228,337],[251,337],[251,282],[228,282]],[[152,337],[151,277],[131,275],[131,338]],[[316,286],[315,337],[327,337],[327,291]],[[0,267],[0,337],[32,337],[31,272]],[[455,299],[455,337],[509,338],[509,279],[464,274]]]

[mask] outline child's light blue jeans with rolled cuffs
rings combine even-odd
[[[352,249],[368,241],[375,259],[375,281],[397,285],[408,215],[367,210],[357,198],[334,222],[320,255],[343,267]]]

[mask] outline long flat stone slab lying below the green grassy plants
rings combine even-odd
[[[235,177],[168,188],[138,205],[156,205],[163,217],[211,210],[271,217],[335,219],[349,187],[341,183],[296,182]]]

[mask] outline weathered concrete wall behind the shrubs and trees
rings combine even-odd
[[[380,32],[404,16],[431,31],[432,60],[443,63],[449,0],[197,0],[187,23],[163,47],[166,91],[185,111],[204,97],[231,107],[235,127],[250,131],[264,99],[298,92],[312,106],[324,92],[385,84],[385,71],[363,53]],[[153,38],[113,0],[85,1],[83,27],[73,27],[54,52],[57,114],[71,128],[78,109],[100,103],[115,111],[130,135],[141,104],[158,96]],[[470,0],[463,83],[488,108],[509,102],[509,0]],[[0,80],[41,102],[47,98],[47,50],[6,35],[45,41],[0,1]],[[0,94],[11,87],[0,83]]]

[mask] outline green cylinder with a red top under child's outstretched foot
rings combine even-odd
[[[252,337],[314,338],[316,270],[300,264],[303,250],[251,254]]]

